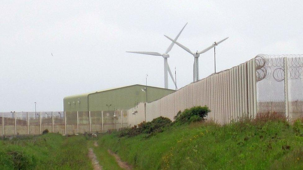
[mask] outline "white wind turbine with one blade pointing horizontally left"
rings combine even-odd
[[[187,23],[181,29],[181,31],[179,32],[179,34],[175,37],[174,41],[177,41],[177,39],[179,38],[180,34],[182,33],[182,31],[183,31],[183,29],[185,28],[186,25],[187,25]],[[163,54],[158,53],[158,52],[141,52],[141,51],[126,51],[126,52],[128,52],[128,53],[138,53],[138,54],[147,54],[147,55],[162,56],[163,57],[163,62],[164,62],[164,88],[168,89],[168,74],[167,74],[167,72],[170,73],[170,78],[174,82],[174,85],[176,86],[176,82],[174,81],[174,76],[171,73],[170,66],[168,65],[168,62],[167,62],[167,58],[170,57],[170,55],[168,53],[173,48],[173,46],[174,46],[174,42],[172,42],[170,44],[170,46],[167,48],[167,50]]]

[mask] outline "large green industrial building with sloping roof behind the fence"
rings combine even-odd
[[[147,88],[147,90],[145,90]],[[146,97],[147,91],[147,97]],[[130,109],[137,103],[158,100],[175,90],[145,85],[129,85],[92,93],[67,96],[63,99],[64,111],[107,111]]]

